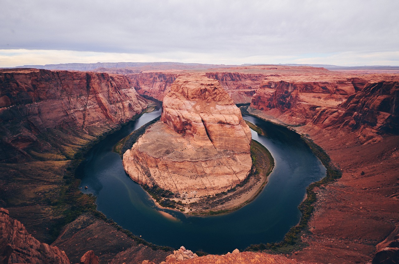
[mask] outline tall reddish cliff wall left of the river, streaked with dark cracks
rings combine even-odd
[[[52,128],[98,135],[128,121],[146,107],[132,86],[106,73],[1,70],[0,160],[28,156],[24,149]]]

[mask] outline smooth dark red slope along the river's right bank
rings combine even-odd
[[[249,110],[250,114],[258,118],[279,121],[253,110]],[[350,130],[282,125],[310,139],[331,159],[330,164],[339,168],[342,177],[313,186],[310,206],[314,209],[304,231],[297,233],[295,243],[285,243],[283,247],[254,245],[248,250],[281,252],[307,262],[371,262],[375,246],[399,221],[395,177],[399,168],[399,137],[386,135],[381,142],[362,145]]]

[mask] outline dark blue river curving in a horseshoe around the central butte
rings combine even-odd
[[[250,244],[282,240],[300,220],[298,205],[306,187],[326,175],[326,169],[300,136],[252,116],[245,120],[262,128],[266,136],[252,131],[275,159],[269,182],[258,197],[241,209],[216,216],[187,216],[164,210],[177,220],[164,217],[148,194],[124,172],[113,146],[124,136],[160,115],[160,110],[143,114],[121,130],[107,136],[87,154],[77,176],[84,193],[97,196],[97,210],[148,242],[225,254]]]

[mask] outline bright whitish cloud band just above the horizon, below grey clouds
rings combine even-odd
[[[399,51],[389,52],[342,52],[305,55],[255,55],[246,56],[231,53],[106,53],[69,50],[28,50],[0,49],[0,67],[22,65],[45,65],[57,63],[96,63],[96,62],[154,62],[174,61],[184,63],[211,64],[333,64],[341,66],[399,65]]]

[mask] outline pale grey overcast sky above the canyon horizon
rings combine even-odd
[[[399,65],[398,0],[0,0],[0,67]]]

